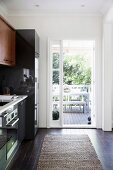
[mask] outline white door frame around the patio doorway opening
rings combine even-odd
[[[50,128],[51,125],[50,125],[50,121],[52,119],[52,114],[51,113],[51,105],[50,105],[50,102],[51,102],[51,93],[50,91],[52,90],[52,87],[51,87],[51,82],[52,82],[52,76],[51,76],[51,61],[50,61],[50,43],[51,41],[53,40],[58,40],[57,38],[55,39],[48,39],[48,70],[47,70],[47,79],[48,79],[48,83],[47,83],[47,128]],[[66,39],[59,39],[59,40],[66,40]],[[71,39],[72,40],[72,39]],[[74,40],[78,40],[78,39],[74,39]],[[80,40],[89,40],[91,41],[92,39],[80,39]],[[99,50],[99,42],[98,40],[95,40],[93,39],[92,41],[95,41],[95,60],[94,60],[94,65],[95,65],[95,115],[96,115],[96,128],[101,128],[102,127],[102,115],[101,115],[101,109],[102,109],[102,102],[101,102],[101,99],[102,99],[102,92],[101,92],[101,57],[100,57],[100,50]],[[61,82],[62,83],[62,82]],[[62,91],[62,90],[61,90]],[[62,101],[61,101],[61,104],[62,104]],[[62,114],[63,115],[63,114]],[[63,120],[63,119],[62,119]],[[62,128],[63,126],[63,122],[61,122],[61,125],[60,126],[57,126],[57,128]],[[76,126],[77,127],[77,126]],[[86,127],[86,126],[85,126]],[[72,127],[72,128],[75,128]],[[83,128],[83,126],[82,126]]]

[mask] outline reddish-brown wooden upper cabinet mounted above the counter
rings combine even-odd
[[[0,18],[0,64],[15,66],[15,30]]]

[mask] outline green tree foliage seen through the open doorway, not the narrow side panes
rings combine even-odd
[[[91,67],[87,57],[65,56],[63,70],[65,84],[91,84]]]

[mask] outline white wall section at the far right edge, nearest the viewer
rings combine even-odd
[[[113,6],[103,17],[102,129],[113,128]]]

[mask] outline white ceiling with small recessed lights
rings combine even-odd
[[[8,12],[66,12],[104,14],[113,0],[0,0]],[[37,5],[39,5],[37,7]]]

